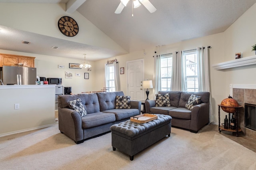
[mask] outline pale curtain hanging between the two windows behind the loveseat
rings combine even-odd
[[[186,91],[183,73],[183,51],[174,51],[172,53],[172,81],[171,91]]]

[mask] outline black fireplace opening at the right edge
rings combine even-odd
[[[256,131],[256,105],[244,103],[244,113],[245,127]]]

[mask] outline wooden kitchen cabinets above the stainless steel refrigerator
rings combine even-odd
[[[35,58],[22,55],[0,54],[0,67],[3,67],[3,65],[18,65],[18,63],[22,63],[26,67],[35,67]]]

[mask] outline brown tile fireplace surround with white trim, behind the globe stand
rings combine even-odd
[[[256,131],[249,128],[244,128],[244,103],[250,103],[256,105],[256,85],[230,85],[230,94],[239,105],[242,105],[238,109],[238,125],[244,132],[245,136],[256,140]]]

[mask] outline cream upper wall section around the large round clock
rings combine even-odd
[[[0,25],[63,40],[126,52],[79,12],[75,11],[69,14],[65,10],[65,4],[1,3],[0,16],[2,17]],[[76,20],[79,26],[79,36],[72,38],[63,36],[57,25],[58,20],[62,16],[70,16]]]

